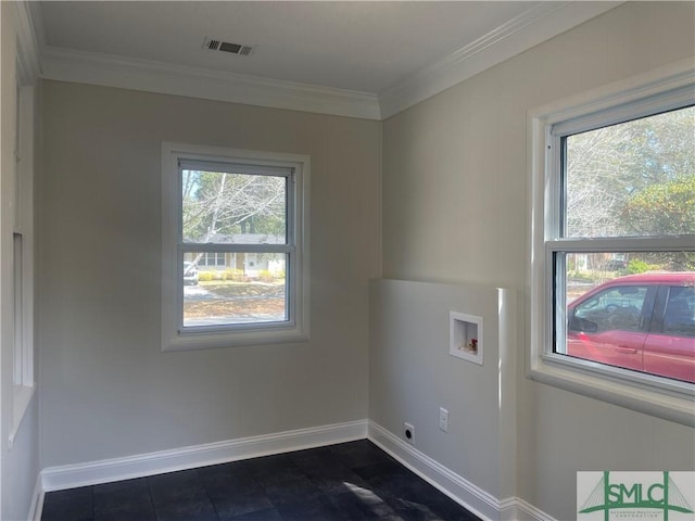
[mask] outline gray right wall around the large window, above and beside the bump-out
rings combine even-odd
[[[384,122],[383,277],[523,295],[527,111],[692,58],[694,22],[692,2],[629,2]],[[695,430],[531,382],[519,355],[521,498],[574,519],[578,470],[695,469]],[[408,407],[428,412],[379,404]]]

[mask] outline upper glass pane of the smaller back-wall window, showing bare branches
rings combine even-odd
[[[287,243],[286,177],[182,169],[181,190],[184,242]]]

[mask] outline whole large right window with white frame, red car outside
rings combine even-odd
[[[531,114],[531,378],[695,423],[695,81]]]

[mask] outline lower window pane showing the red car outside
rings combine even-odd
[[[557,254],[556,353],[695,382],[692,252]],[[691,266],[684,270],[683,266]],[[561,320],[565,328],[559,327]]]

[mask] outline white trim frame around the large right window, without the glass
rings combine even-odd
[[[529,205],[530,205],[530,255],[528,259],[528,290],[530,295],[529,323],[530,339],[527,352],[527,377],[567,391],[597,398],[615,405],[695,427],[695,391],[692,384],[679,383],[652,377],[635,376],[632,371],[610,368],[587,360],[570,359],[553,353],[553,282],[552,255],[558,246],[554,239],[558,219],[559,203],[557,176],[549,168],[555,161],[555,148],[548,145],[549,128],[554,124],[570,122],[573,127],[587,128],[612,111],[615,115],[626,103],[634,111],[640,100],[646,100],[644,114],[650,112],[654,97],[664,103],[669,92],[683,94],[683,88],[695,88],[693,60],[687,59],[648,74],[635,76],[609,86],[595,89],[568,100],[561,100],[529,112]],[[686,94],[687,96],[687,94]],[[631,112],[635,115],[634,112]],[[664,238],[658,247],[683,247],[687,238]],[[640,250],[643,241],[621,239],[622,247]],[[602,240],[596,239],[596,245]],[[585,243],[585,241],[582,241]],[[605,241],[604,245],[615,241]],[[566,242],[569,245],[570,242]],[[578,244],[574,244],[578,245]]]

